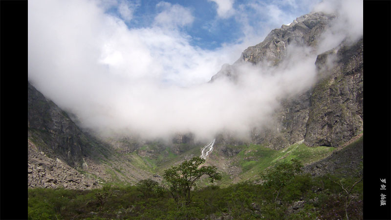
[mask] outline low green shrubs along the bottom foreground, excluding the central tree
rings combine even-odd
[[[340,180],[330,176],[335,181]],[[225,177],[223,177],[225,178]],[[344,180],[347,184],[355,181],[353,177]],[[313,192],[321,186],[322,191]],[[289,188],[289,186],[291,186]],[[358,198],[353,199],[348,214],[350,219],[363,219],[363,184],[353,189]],[[282,205],[274,203],[275,196],[266,185],[242,182],[227,187],[199,185],[192,191],[192,203],[186,209],[182,201],[175,202],[166,191],[152,191],[149,197],[143,196],[136,186],[111,186],[102,189],[65,190],[65,189],[28,189],[27,219],[185,219],[183,211],[189,214],[186,219],[212,219],[213,216],[229,214],[233,219],[261,219],[255,212],[255,206],[261,207],[263,219],[344,219],[344,191],[327,176],[312,177],[299,175],[289,181],[282,189]],[[98,194],[99,193],[99,194]],[[99,195],[105,195],[104,203]],[[313,198],[318,201],[311,201]],[[308,208],[300,208],[289,214],[293,201],[306,201]],[[182,207],[182,208],[181,208]],[[225,214],[225,215],[223,215]],[[294,217],[294,218],[292,218]],[[317,218],[318,217],[318,218]]]

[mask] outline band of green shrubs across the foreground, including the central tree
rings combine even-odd
[[[203,162],[201,158],[198,161]],[[215,175],[213,167],[202,170],[195,164],[193,167],[193,162],[187,161],[166,170],[168,185],[142,180],[136,186],[105,185],[93,190],[28,189],[28,220],[363,219],[362,176],[341,179],[300,174],[301,165],[294,160],[266,172],[263,184],[244,181],[227,187],[181,189],[192,178],[176,175],[179,170],[195,174],[195,179],[204,172]],[[221,175],[220,181],[224,176],[227,177]],[[344,188],[351,189],[351,194]]]

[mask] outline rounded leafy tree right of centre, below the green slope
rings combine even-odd
[[[277,201],[278,196],[282,188],[286,185],[286,183],[293,179],[296,174],[302,173],[303,165],[297,160],[292,159],[292,163],[282,163],[277,165],[272,169],[266,170],[261,174],[261,178],[265,180],[263,183],[265,186],[273,189],[275,194],[277,194],[274,202]]]

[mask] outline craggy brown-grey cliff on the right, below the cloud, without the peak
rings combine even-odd
[[[254,130],[255,143],[281,149],[304,140],[307,146],[338,147],[363,131],[363,38],[318,55],[315,65],[318,83],[283,100],[275,124]]]

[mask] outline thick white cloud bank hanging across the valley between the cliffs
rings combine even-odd
[[[315,8],[340,14],[319,52],[362,35],[362,1],[336,2]],[[314,84],[316,54],[294,47],[280,67],[243,65],[236,84],[205,83],[237,59],[240,44],[214,51],[192,46],[177,28],[191,24],[190,11],[159,4],[163,11],[151,27],[129,29],[97,1],[29,2],[29,81],[84,128],[143,138],[193,132],[205,139],[223,130],[245,136],[267,121],[280,98]],[[130,9],[122,8],[128,20]]]

